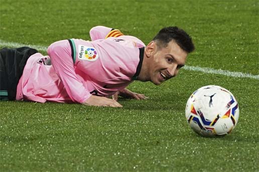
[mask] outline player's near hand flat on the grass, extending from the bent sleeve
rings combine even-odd
[[[114,99],[107,98],[107,97],[102,97],[102,96],[96,96],[96,95],[91,95],[82,104],[84,104],[84,105],[94,105],[94,106],[122,107],[122,105],[119,104]]]

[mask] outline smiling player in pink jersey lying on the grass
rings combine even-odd
[[[48,56],[29,47],[2,49],[2,99],[121,107],[118,95],[146,98],[126,89],[128,84],[134,80],[161,84],[177,75],[194,50],[191,37],[178,27],[161,29],[147,46],[104,26],[93,27],[90,37],[91,41],[54,42]]]

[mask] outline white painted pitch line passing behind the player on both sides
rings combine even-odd
[[[17,42],[8,42],[4,40],[0,40],[0,46],[8,46],[8,47],[21,47],[21,46],[29,46],[32,48],[35,48],[40,51],[46,51],[46,46],[40,46],[40,45],[27,45]],[[201,71],[204,73],[212,73],[212,74],[222,74],[226,76],[232,76],[232,77],[247,77],[247,78],[253,78],[259,80],[259,75],[252,75],[250,73],[242,73],[237,71],[228,71],[228,70],[222,70],[222,69],[214,69],[209,67],[199,67],[199,66],[191,66],[191,65],[185,65],[183,67],[186,70],[193,70],[193,71]]]

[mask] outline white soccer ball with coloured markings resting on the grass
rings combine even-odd
[[[192,93],[185,116],[190,127],[202,136],[226,135],[237,124],[239,108],[229,90],[207,85]]]

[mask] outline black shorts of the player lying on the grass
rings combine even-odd
[[[37,52],[27,46],[0,49],[0,100],[16,99],[17,84],[24,66],[28,58]]]

